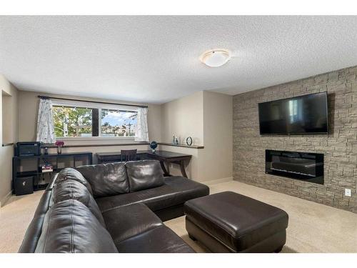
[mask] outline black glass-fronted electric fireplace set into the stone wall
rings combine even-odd
[[[266,174],[323,184],[323,154],[266,150]]]

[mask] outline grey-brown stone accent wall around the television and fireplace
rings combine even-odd
[[[233,178],[357,213],[356,73],[354,66],[233,96]],[[259,102],[322,91],[328,92],[328,135],[259,135]],[[266,149],[325,154],[324,184],[265,174]]]

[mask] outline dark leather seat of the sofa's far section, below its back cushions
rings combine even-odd
[[[193,182],[184,177],[166,177],[164,185],[161,187],[113,197],[101,197],[96,199],[96,202],[102,213],[139,202],[143,202],[155,212],[207,194],[209,194],[209,188],[204,184]]]

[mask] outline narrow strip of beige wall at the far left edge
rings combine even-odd
[[[17,142],[18,138],[18,91],[0,74],[0,141],[1,144]],[[3,101],[4,98],[4,101]],[[4,104],[4,107],[3,107]],[[4,108],[4,109],[3,109]],[[3,114],[3,112],[5,114]],[[4,117],[4,120],[3,120]],[[0,147],[0,207],[11,193],[14,147]]]

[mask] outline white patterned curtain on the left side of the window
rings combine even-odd
[[[54,121],[52,118],[52,102],[50,99],[40,99],[36,141],[46,144],[56,142]]]

